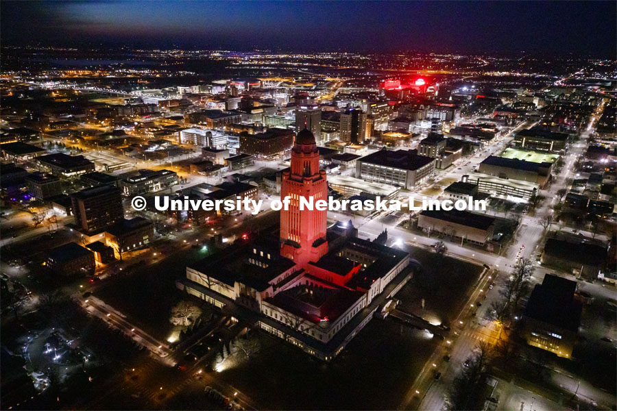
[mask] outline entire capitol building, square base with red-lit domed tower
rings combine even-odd
[[[186,268],[180,290],[232,310],[253,327],[321,360],[332,360],[411,278],[409,253],[356,238],[348,223],[326,227],[326,210],[301,210],[300,197],[326,200],[315,137],[302,130],[282,173],[291,197],[280,227]],[[252,235],[251,235],[252,236]]]

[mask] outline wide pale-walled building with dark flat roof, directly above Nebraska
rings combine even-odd
[[[412,190],[435,175],[435,159],[413,150],[380,150],[356,160],[356,178]]]

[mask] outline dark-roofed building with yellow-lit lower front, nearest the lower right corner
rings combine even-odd
[[[527,344],[572,358],[581,324],[582,305],[574,298],[577,282],[546,274],[531,292],[522,317]]]

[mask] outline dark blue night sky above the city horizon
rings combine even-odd
[[[2,1],[5,45],[616,57],[617,2]]]

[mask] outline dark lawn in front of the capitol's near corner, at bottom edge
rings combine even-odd
[[[265,409],[392,410],[437,340],[395,319],[373,319],[332,362],[261,332],[262,349],[217,373]]]

